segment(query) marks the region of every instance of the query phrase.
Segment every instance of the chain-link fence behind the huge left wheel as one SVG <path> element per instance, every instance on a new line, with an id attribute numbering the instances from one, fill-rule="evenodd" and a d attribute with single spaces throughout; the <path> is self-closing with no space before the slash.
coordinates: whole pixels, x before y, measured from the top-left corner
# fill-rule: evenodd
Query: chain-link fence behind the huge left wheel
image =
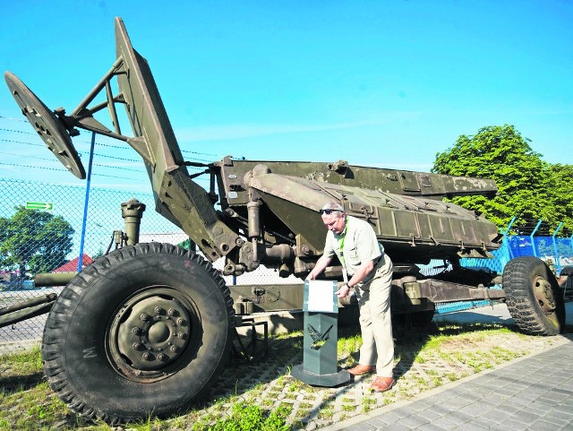
<path id="1" fill-rule="evenodd" d="M 151 193 L 91 188 L 86 208 L 84 187 L 0 178 L 0 308 L 59 293 L 62 287 L 37 289 L 34 276 L 39 272 L 77 272 L 80 262 L 85 266 L 113 249 L 114 231 L 124 230 L 121 204 L 130 199 L 146 205 L 140 242 L 181 244 L 187 239 L 180 228 L 155 211 Z M 222 269 L 223 263 L 221 259 L 214 266 Z M 228 285 L 301 282 L 292 276 L 281 279 L 267 268 L 225 280 Z M 37 341 L 46 317 L 0 328 L 0 344 L 25 347 Z"/>

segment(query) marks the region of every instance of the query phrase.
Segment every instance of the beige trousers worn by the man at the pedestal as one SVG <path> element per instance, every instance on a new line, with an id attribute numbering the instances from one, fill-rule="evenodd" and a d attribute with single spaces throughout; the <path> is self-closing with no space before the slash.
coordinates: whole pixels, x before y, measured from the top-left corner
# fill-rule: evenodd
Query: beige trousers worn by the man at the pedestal
<path id="1" fill-rule="evenodd" d="M 376 366 L 376 375 L 392 377 L 394 368 L 394 338 L 390 315 L 390 284 L 392 261 L 383 254 L 376 265 L 374 277 L 356 285 L 360 307 L 362 346 L 358 362 Z"/>

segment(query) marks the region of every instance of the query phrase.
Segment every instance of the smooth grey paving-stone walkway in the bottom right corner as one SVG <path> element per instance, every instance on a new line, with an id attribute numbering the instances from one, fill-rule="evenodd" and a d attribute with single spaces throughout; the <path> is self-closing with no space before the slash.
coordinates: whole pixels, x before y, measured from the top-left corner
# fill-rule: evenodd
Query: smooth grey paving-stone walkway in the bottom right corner
<path id="1" fill-rule="evenodd" d="M 564 337 L 541 353 L 321 431 L 573 430 L 573 334 Z"/>

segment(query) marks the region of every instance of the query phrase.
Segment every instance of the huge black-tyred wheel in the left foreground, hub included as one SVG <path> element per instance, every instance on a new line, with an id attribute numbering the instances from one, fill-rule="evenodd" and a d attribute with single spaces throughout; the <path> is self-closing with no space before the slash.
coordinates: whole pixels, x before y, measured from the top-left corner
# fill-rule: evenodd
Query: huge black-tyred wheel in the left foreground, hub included
<path id="1" fill-rule="evenodd" d="M 165 417 L 217 378 L 233 327 L 229 290 L 201 256 L 167 244 L 127 246 L 85 268 L 58 297 L 44 330 L 44 370 L 83 417 Z"/>

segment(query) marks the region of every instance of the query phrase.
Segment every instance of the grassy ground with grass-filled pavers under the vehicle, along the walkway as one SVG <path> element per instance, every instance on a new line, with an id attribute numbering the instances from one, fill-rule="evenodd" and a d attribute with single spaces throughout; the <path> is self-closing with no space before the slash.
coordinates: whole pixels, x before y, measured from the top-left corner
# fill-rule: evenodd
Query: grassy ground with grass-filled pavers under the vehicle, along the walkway
<path id="1" fill-rule="evenodd" d="M 496 325 L 440 323 L 431 332 L 412 332 L 396 342 L 395 390 L 384 394 L 310 386 L 290 375 L 302 363 L 302 332 L 269 340 L 269 358 L 229 366 L 211 389 L 209 402 L 175 418 L 145 418 L 129 424 L 135 431 L 234 431 L 303 429 L 350 418 L 417 393 L 490 369 L 556 342 Z M 338 331 L 338 365 L 358 358 L 359 329 Z M 359 380 L 360 382 L 360 380 Z M 369 384 L 364 380 L 364 384 Z M 336 402 L 335 402 L 336 401 Z M 256 426 L 256 427 L 254 427 Z M 76 417 L 48 387 L 39 349 L 0 358 L 0 430 L 112 431 L 102 422 Z"/>

